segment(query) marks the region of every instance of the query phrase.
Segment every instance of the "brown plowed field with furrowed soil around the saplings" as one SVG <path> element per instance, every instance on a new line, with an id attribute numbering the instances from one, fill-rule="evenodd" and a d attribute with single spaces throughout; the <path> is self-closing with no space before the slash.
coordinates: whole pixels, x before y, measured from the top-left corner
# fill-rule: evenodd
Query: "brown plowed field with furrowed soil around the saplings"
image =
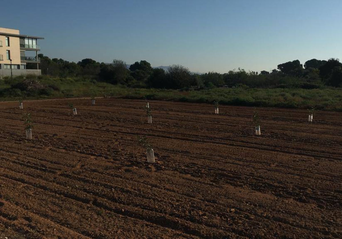
<path id="1" fill-rule="evenodd" d="M 0 238 L 342 238 L 342 113 L 144 104 L 1 102 Z"/>

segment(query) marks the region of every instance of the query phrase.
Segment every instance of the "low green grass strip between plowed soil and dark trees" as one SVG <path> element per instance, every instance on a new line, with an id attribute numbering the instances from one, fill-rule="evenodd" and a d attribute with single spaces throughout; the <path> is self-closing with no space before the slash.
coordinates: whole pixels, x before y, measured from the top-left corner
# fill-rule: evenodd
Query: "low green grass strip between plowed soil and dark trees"
<path id="1" fill-rule="evenodd" d="M 47 99 L 108 96 L 129 99 L 168 100 L 213 103 L 237 106 L 261 106 L 342 111 L 342 89 L 323 87 L 301 88 L 250 88 L 215 87 L 201 90 L 173 90 L 154 88 L 129 88 L 105 82 L 79 78 L 51 78 L 48 76 L 18 76 L 13 80 L 0 80 L 0 100 L 20 98 Z"/>

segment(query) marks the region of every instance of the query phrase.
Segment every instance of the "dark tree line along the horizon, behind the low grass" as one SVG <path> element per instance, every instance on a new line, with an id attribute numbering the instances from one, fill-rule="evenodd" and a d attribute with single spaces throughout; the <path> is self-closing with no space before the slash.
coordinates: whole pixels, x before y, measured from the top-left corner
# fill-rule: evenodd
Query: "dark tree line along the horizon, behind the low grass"
<path id="1" fill-rule="evenodd" d="M 146 60 L 136 61 L 127 67 L 123 60 L 114 59 L 110 64 L 86 58 L 77 63 L 63 59 L 50 59 L 43 54 L 39 68 L 42 74 L 56 77 L 85 77 L 128 87 L 203 89 L 213 87 L 253 88 L 320 88 L 342 87 L 342 63 L 339 59 L 311 59 L 304 63 L 288 61 L 268 71 L 245 71 L 238 68 L 227 73 L 208 72 L 195 74 L 181 65 L 171 65 L 168 70 L 152 68 Z M 27 64 L 34 69 L 35 64 Z"/>

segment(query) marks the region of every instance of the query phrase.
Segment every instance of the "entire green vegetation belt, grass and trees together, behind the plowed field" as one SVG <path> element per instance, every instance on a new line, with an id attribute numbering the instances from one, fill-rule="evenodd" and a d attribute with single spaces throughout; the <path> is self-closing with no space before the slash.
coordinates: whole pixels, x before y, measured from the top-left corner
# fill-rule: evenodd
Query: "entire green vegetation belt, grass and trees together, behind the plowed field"
<path id="1" fill-rule="evenodd" d="M 75 63 L 39 57 L 43 75 L 0 79 L 0 100 L 104 96 L 342 111 L 342 63 L 334 58 L 311 59 L 304 67 L 293 60 L 272 72 L 238 68 L 193 74 L 180 65 L 167 72 L 153 69 L 145 60 L 128 69 L 117 59 L 105 64 L 89 58 Z"/>

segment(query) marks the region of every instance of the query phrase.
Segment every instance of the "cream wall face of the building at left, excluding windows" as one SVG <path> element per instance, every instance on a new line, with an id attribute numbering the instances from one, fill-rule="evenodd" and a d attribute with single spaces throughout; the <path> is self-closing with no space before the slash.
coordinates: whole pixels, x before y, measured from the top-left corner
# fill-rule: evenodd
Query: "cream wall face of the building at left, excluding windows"
<path id="1" fill-rule="evenodd" d="M 19 30 L 8 29 L 0 27 L 0 32 L 10 33 L 10 34 L 19 34 Z M 5 37 L 0 35 L 0 41 L 2 41 L 2 47 L 0 46 L 0 55 L 3 56 L 3 60 L 0 61 L 1 64 L 11 64 L 10 60 L 7 60 L 6 50 L 10 50 L 10 55 L 12 59 L 12 64 L 20 65 L 20 41 L 19 37 L 11 37 L 9 36 L 10 46 L 6 46 Z"/>

